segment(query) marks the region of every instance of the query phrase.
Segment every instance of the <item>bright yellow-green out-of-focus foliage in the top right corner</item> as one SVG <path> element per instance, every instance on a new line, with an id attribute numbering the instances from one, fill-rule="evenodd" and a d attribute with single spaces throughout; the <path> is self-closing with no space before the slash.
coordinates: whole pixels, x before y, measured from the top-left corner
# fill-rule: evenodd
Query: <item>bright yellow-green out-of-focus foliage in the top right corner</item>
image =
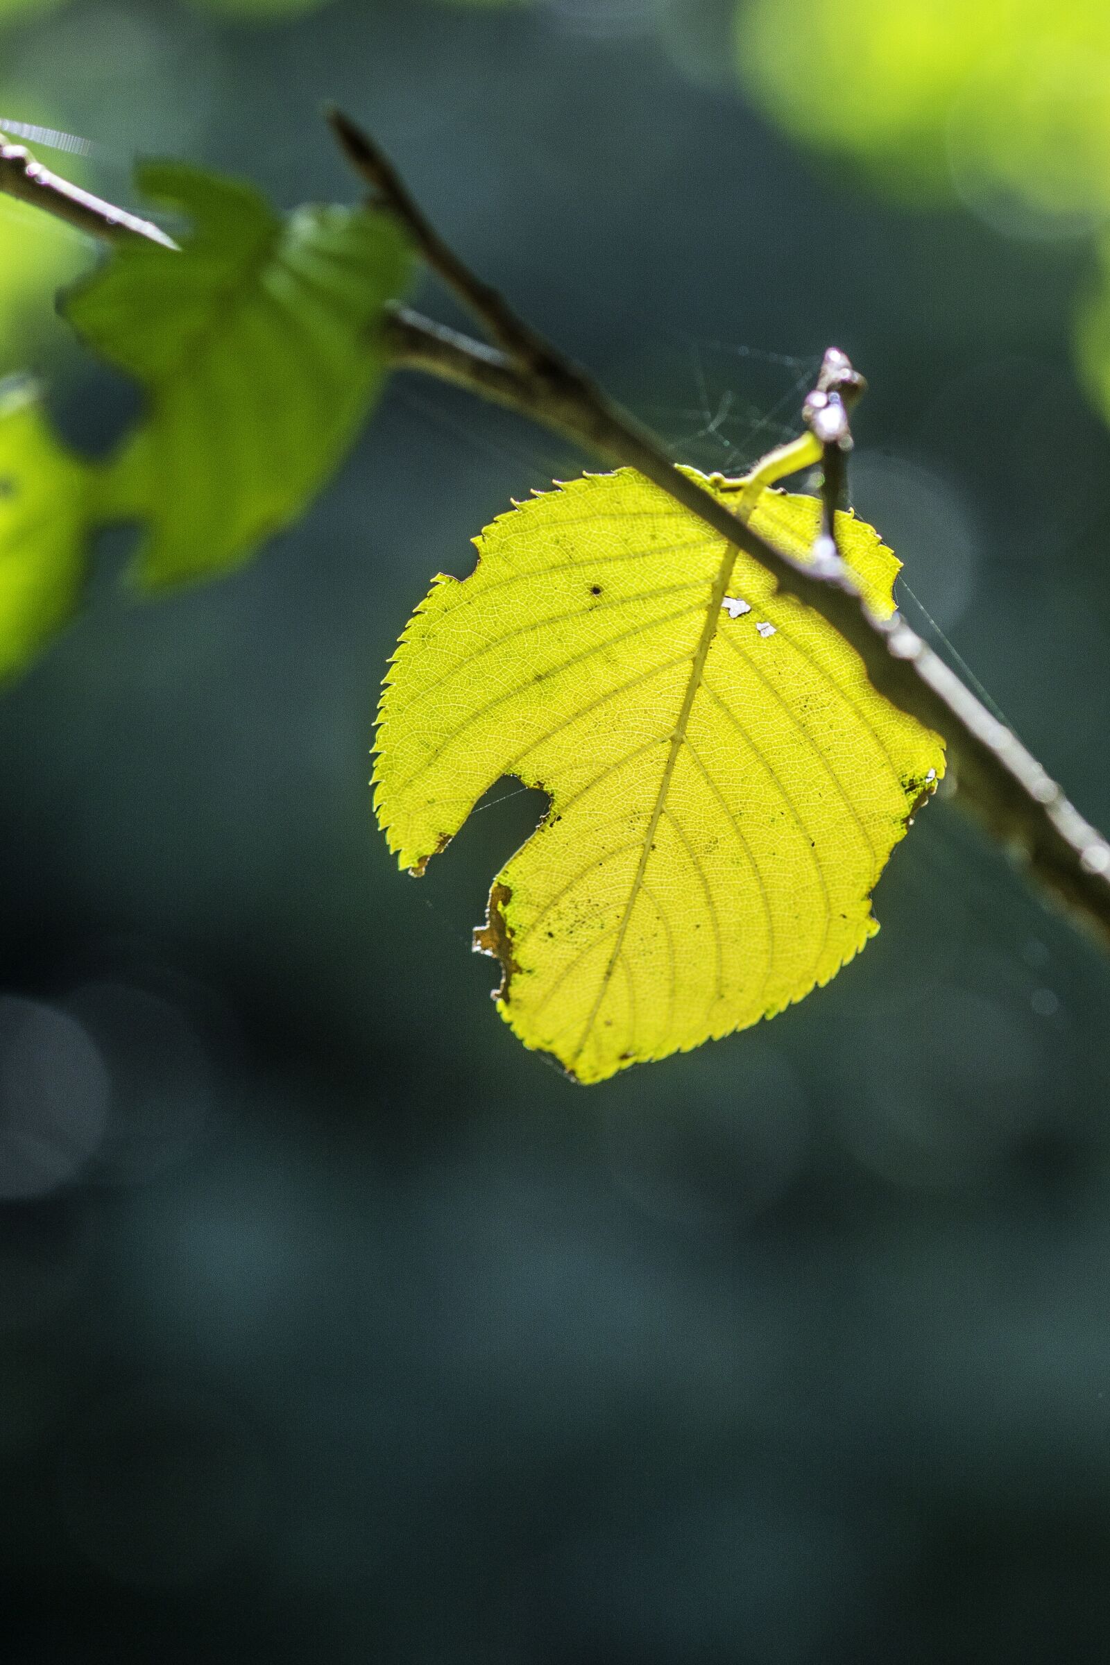
<path id="1" fill-rule="evenodd" d="M 789 132 L 1018 233 L 1110 213 L 1105 0 L 739 0 L 737 62 Z"/>

